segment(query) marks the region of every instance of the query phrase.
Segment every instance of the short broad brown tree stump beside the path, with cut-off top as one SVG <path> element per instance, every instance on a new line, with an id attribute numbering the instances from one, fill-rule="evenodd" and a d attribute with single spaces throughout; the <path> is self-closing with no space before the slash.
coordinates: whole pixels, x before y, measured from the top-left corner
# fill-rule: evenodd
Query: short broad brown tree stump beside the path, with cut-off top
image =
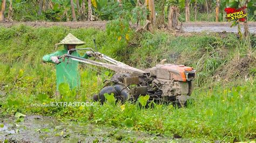
<path id="1" fill-rule="evenodd" d="M 177 6 L 170 6 L 167 26 L 169 30 L 176 30 L 176 26 L 178 25 L 178 13 L 179 9 Z"/>

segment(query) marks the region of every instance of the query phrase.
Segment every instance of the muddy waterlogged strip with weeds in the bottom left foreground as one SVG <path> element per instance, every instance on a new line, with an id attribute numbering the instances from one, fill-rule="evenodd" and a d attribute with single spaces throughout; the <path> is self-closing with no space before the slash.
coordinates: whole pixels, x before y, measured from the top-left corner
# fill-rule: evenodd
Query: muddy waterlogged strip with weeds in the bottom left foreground
<path id="1" fill-rule="evenodd" d="M 62 123 L 52 117 L 43 116 L 26 116 L 24 121 L 19 122 L 16 122 L 14 118 L 0 119 L 0 125 L 0 141 L 2 142 L 4 140 L 22 142 L 176 141 L 176 139 L 157 137 L 129 129 L 74 123 L 72 121 Z"/>

